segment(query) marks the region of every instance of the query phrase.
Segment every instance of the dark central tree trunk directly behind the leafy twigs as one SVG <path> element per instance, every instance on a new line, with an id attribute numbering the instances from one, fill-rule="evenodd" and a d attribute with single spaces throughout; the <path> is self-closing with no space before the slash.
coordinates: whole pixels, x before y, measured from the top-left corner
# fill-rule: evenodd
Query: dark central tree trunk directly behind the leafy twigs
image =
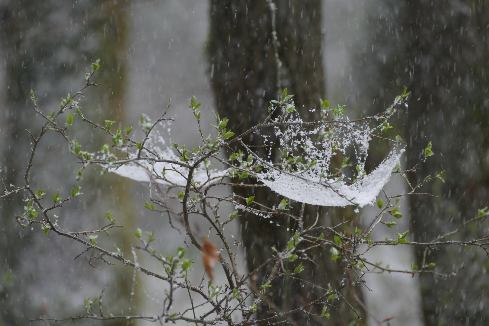
<path id="1" fill-rule="evenodd" d="M 278 37 L 278 55 L 283 63 L 281 69 L 281 87 L 287 87 L 293 94 L 295 106 L 304 119 L 314 119 L 309 109 L 318 108 L 319 98 L 325 98 L 325 76 L 323 68 L 321 32 L 321 1 L 276 1 L 276 30 Z M 207 45 L 210 58 L 210 74 L 217 109 L 221 116 L 229 118 L 228 129 L 243 132 L 257 125 L 267 116 L 270 100 L 277 99 L 277 65 L 272 42 L 271 12 L 265 0 L 249 1 L 211 1 L 210 39 Z M 270 140 L 274 135 L 270 135 Z M 254 146 L 263 145 L 263 139 L 249 135 L 245 142 Z M 238 150 L 237 147 L 235 150 Z M 255 147 L 263 155 L 268 149 Z M 275 154 L 277 147 L 272 149 Z M 339 155 L 338 155 L 339 156 Z M 255 201 L 267 203 L 270 207 L 280 201 L 279 196 L 269 190 L 251 191 L 240 187 L 233 188 L 239 196 L 255 196 Z M 300 203 L 292 203 L 294 213 L 298 215 Z M 311 225 L 316 217 L 316 209 L 310 205 L 305 210 L 305 225 Z M 322 209 L 320 212 L 325 223 L 334 223 L 343 218 L 352 218 L 353 211 L 348 209 Z M 278 218 L 272 221 L 266 218 L 244 214 L 240 219 L 242 240 L 248 270 L 260 266 L 272 255 L 271 247 L 283 247 L 287 244 L 292 230 L 298 229 L 294 221 Z M 281 226 L 276 226 L 279 223 Z M 329 224 L 331 225 L 331 224 Z M 317 255 L 316 255 L 317 254 Z M 320 261 L 320 267 L 309 261 L 303 261 L 307 269 L 308 281 L 323 288 L 328 284 L 337 286 L 341 278 L 338 261 L 329 257 L 320 257 L 319 251 L 312 252 L 314 261 Z M 326 260 L 326 262 L 324 262 Z M 296 263 L 288 263 L 286 269 L 293 269 Z M 270 270 L 257 273 L 257 283 L 265 280 Z M 313 287 L 301 288 L 289 279 L 272 283 L 267 295 L 282 312 L 300 307 L 313 301 L 323 291 Z M 345 297 L 357 307 L 348 288 Z M 357 290 L 357 293 L 360 292 Z M 292 316 L 297 325 L 355 325 L 357 319 L 346 304 L 340 303 L 340 313 L 332 312 L 331 320 L 309 319 L 305 314 Z M 313 307 L 312 312 L 321 314 L 322 305 Z M 269 307 L 259 308 L 259 318 L 269 317 Z M 361 314 L 361 313 L 360 313 Z M 353 322 L 353 324 L 351 324 Z M 309 324 L 308 324 L 309 323 Z"/>

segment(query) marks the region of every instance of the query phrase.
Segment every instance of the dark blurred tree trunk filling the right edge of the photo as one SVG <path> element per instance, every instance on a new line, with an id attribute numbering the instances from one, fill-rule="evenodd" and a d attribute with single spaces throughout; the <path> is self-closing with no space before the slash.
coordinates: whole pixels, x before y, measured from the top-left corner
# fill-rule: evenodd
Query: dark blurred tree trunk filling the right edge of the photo
<path id="1" fill-rule="evenodd" d="M 424 198 L 411 200 L 416 212 L 412 217 L 415 239 L 429 241 L 456 229 L 488 205 L 489 4 L 469 2 L 460 7 L 440 1 L 435 9 L 425 1 L 410 1 L 408 8 L 413 36 L 407 51 L 414 68 L 408 84 L 413 96 L 407 130 L 414 137 L 408 162 L 419 161 L 429 141 L 435 152 L 411 181 L 420 182 L 423 175 L 442 170 L 447 181 L 444 186 L 431 186 L 431 192 L 441 196 L 433 204 L 426 205 Z M 447 14 L 450 12 L 453 15 Z M 423 127 L 417 130 L 416 126 Z M 452 239 L 487 235 L 487 223 L 478 225 L 472 224 Z M 428 252 L 427 262 L 436 262 L 436 269 L 446 274 L 465 269 L 449 280 L 434 282 L 428 274 L 421 277 L 425 325 L 487 325 L 488 257 L 478 247 L 439 249 L 441 252 Z M 420 264 L 423 252 L 416 253 Z"/>

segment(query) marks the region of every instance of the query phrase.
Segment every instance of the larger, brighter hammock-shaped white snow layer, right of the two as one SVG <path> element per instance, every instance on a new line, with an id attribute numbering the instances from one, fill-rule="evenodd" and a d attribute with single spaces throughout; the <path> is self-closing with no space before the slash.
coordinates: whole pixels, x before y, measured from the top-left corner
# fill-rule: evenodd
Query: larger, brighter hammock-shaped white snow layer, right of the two
<path id="1" fill-rule="evenodd" d="M 277 170 L 258 174 L 257 177 L 277 194 L 298 202 L 339 207 L 357 204 L 363 207 L 377 199 L 403 152 L 404 149 L 396 154 L 394 149 L 374 171 L 352 185 L 333 179 L 320 181 L 318 175 L 294 175 Z"/>

